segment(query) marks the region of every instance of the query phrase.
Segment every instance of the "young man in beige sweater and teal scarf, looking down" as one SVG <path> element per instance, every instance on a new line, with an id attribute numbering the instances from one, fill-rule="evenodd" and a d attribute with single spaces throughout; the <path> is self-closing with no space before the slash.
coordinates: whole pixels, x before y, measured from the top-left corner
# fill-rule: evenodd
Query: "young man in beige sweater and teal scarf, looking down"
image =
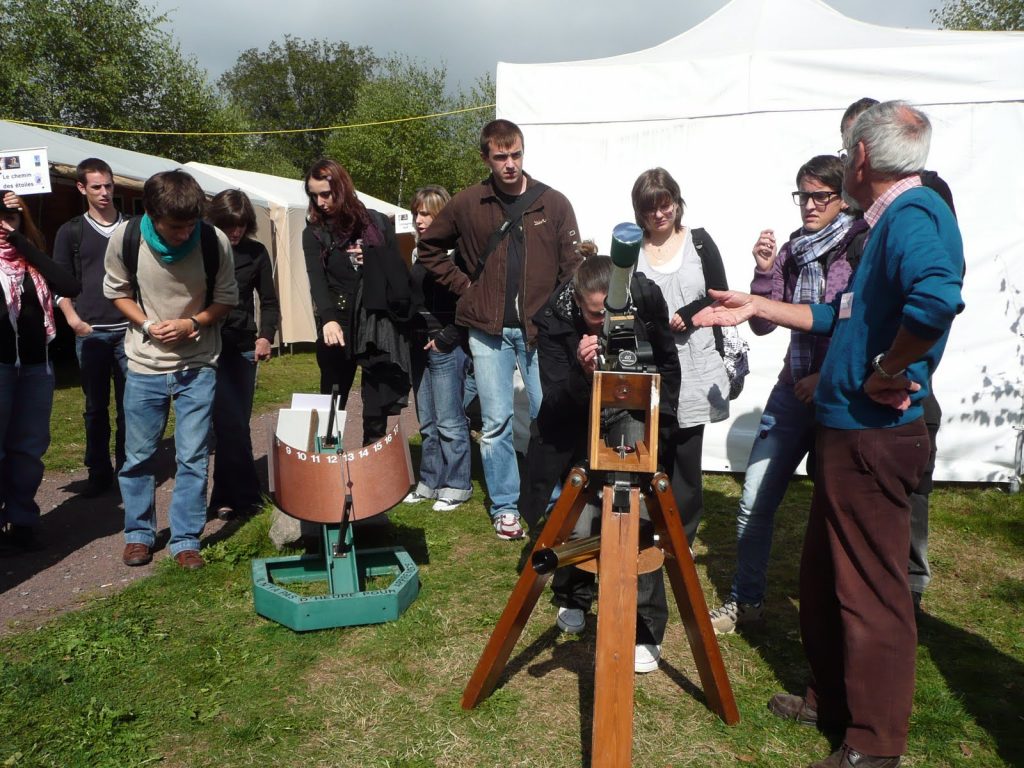
<path id="1" fill-rule="evenodd" d="M 174 402 L 177 460 L 169 510 L 171 556 L 183 568 L 205 564 L 206 478 L 219 325 L 238 304 L 231 246 L 216 231 L 219 263 L 212 286 L 201 246 L 206 196 L 184 171 L 146 180 L 137 257 L 126 254 L 129 224 L 106 248 L 103 295 L 131 327 L 125 352 L 125 464 L 118 475 L 125 505 L 125 565 L 144 565 L 156 545 L 157 449 Z M 209 237 L 209 236 L 208 236 Z M 126 258 L 126 255 L 129 258 Z"/>

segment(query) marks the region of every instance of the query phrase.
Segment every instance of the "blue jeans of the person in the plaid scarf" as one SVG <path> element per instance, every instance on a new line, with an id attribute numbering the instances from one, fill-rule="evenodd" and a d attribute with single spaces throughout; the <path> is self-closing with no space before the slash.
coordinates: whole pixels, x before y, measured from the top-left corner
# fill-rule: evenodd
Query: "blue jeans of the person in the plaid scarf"
<path id="1" fill-rule="evenodd" d="M 775 510 L 813 444 L 814 407 L 797 399 L 791 385 L 777 382 L 761 415 L 739 497 L 733 600 L 764 599 Z"/>

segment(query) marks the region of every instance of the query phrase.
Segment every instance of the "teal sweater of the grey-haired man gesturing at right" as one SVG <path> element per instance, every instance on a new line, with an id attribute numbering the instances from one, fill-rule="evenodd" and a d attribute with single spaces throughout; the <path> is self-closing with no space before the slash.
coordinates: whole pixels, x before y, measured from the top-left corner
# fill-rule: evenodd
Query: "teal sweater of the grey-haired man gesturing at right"
<path id="1" fill-rule="evenodd" d="M 949 207 L 931 189 L 915 187 L 892 202 L 867 239 L 850 292 L 850 316 L 839 317 L 841 299 L 814 304 L 812 333 L 831 334 L 815 392 L 818 423 L 834 429 L 876 429 L 921 418 L 949 328 L 964 309 L 964 244 Z M 907 369 L 921 384 L 900 412 L 864 394 L 871 359 L 889 349 L 900 327 L 935 339 Z"/>

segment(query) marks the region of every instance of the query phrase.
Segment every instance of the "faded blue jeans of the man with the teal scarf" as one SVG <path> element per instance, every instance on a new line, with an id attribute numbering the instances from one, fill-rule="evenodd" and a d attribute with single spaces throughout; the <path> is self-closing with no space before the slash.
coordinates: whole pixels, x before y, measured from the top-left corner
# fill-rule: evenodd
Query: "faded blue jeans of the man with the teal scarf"
<path id="1" fill-rule="evenodd" d="M 174 401 L 177 474 L 169 513 L 171 555 L 199 549 L 206 525 L 206 471 L 217 374 L 210 367 L 173 374 L 128 372 L 125 385 L 125 465 L 118 478 L 125 503 L 125 543 L 157 540 L 157 449 Z"/>

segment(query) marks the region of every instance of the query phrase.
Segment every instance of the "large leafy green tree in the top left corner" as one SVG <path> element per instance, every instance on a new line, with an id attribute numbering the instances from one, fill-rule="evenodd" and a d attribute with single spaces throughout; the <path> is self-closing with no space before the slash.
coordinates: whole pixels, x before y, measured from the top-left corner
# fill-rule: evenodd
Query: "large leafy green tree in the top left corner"
<path id="1" fill-rule="evenodd" d="M 140 0 L 17 0 L 0 4 L 0 115 L 65 126 L 215 131 L 233 127 L 206 81 Z M 177 160 L 223 162 L 225 137 L 81 135 Z"/>

